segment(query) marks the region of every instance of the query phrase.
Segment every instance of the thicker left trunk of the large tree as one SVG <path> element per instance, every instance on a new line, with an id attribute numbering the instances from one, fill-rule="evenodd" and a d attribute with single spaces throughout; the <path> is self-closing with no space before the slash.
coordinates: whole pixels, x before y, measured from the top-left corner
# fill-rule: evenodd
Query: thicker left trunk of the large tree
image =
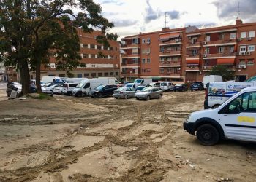
<path id="1" fill-rule="evenodd" d="M 29 66 L 26 60 L 19 60 L 20 68 L 20 81 L 22 84 L 22 95 L 30 93 L 30 75 L 29 75 Z"/>

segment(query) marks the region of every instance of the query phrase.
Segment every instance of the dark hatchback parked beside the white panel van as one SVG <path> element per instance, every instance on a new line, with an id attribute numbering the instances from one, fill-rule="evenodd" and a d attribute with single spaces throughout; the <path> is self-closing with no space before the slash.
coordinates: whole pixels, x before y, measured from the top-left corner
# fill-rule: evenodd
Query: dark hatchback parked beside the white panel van
<path id="1" fill-rule="evenodd" d="M 103 98 L 105 96 L 113 95 L 113 92 L 116 89 L 116 84 L 101 84 L 94 90 L 91 90 L 89 95 L 91 98 Z"/>

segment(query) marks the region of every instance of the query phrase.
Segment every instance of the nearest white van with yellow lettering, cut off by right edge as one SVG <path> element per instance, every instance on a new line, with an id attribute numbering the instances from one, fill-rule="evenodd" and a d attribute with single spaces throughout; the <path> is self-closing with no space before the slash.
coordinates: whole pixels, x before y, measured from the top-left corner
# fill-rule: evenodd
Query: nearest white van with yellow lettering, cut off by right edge
<path id="1" fill-rule="evenodd" d="M 218 108 L 190 114 L 184 130 L 208 146 L 225 138 L 256 142 L 256 87 L 241 90 Z"/>

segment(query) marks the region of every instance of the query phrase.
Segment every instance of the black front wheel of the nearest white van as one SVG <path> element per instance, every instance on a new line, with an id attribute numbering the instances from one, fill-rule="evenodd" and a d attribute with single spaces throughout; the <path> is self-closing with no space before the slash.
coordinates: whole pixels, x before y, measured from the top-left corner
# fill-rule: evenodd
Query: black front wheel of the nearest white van
<path id="1" fill-rule="evenodd" d="M 211 124 L 203 124 L 197 129 L 197 139 L 204 146 L 213 146 L 219 142 L 219 132 Z"/>

